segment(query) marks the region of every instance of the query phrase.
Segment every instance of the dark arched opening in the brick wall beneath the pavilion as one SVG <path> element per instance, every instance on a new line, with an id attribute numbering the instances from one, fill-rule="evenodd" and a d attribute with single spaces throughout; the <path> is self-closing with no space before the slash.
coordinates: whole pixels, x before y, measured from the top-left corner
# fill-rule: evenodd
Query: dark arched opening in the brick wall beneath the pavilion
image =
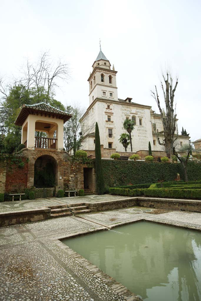
<path id="1" fill-rule="evenodd" d="M 57 185 L 57 161 L 49 155 L 40 156 L 34 164 L 34 186 L 49 188 Z"/>

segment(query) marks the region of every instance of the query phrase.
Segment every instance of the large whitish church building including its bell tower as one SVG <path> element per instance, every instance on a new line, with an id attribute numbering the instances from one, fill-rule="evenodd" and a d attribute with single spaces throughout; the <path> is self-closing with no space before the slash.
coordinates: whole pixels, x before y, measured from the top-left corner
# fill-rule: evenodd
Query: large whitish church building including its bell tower
<path id="1" fill-rule="evenodd" d="M 156 131 L 163 138 L 160 115 L 156 114 L 149 105 L 132 102 L 132 98 L 118 98 L 117 71 L 114 65 L 111 69 L 109 60 L 101 50 L 92 68 L 92 73 L 88 78 L 89 107 L 81 118 L 83 127 L 89 129 L 83 131 L 82 149 L 87 153 L 95 149 L 95 123 L 97 121 L 103 148 L 112 149 L 113 152 L 125 152 L 118 139 L 120 134 L 126 132 L 123 128 L 124 120 L 133 119 L 135 121 L 135 127 L 131 133 L 133 152 L 148 151 L 149 141 L 152 151 L 164 151 L 164 147 L 159 145 L 153 131 L 153 126 L 155 126 Z M 179 135 L 177 145 L 180 147 L 188 143 L 188 139 L 189 137 Z M 127 152 L 130 151 L 129 146 Z"/>

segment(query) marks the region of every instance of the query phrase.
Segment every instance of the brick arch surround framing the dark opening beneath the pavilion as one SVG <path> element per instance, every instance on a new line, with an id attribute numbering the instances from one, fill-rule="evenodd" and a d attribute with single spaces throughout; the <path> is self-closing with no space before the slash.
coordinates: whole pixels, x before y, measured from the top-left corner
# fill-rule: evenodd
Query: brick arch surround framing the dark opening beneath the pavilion
<path id="1" fill-rule="evenodd" d="M 28 163 L 28 176 L 27 176 L 27 188 L 34 187 L 34 164 L 36 160 L 44 155 L 53 157 L 57 163 L 57 189 L 63 189 L 63 154 L 61 152 L 52 152 L 52 151 L 29 151 L 29 163 Z M 56 189 L 56 190 L 57 190 Z"/>

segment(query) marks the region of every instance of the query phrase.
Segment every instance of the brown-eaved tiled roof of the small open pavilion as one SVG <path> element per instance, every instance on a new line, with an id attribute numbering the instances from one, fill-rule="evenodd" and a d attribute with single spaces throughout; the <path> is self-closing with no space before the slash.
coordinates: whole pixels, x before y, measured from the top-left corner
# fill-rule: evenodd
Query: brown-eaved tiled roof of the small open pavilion
<path id="1" fill-rule="evenodd" d="M 40 102 L 38 104 L 23 104 L 22 109 L 17 116 L 15 124 L 17 126 L 22 126 L 24 121 L 27 119 L 29 114 L 41 113 L 50 116 L 56 116 L 58 119 L 63 119 L 64 123 L 71 118 L 71 114 L 59 110 L 55 107 L 52 107 L 50 104 L 46 104 L 45 102 Z"/>

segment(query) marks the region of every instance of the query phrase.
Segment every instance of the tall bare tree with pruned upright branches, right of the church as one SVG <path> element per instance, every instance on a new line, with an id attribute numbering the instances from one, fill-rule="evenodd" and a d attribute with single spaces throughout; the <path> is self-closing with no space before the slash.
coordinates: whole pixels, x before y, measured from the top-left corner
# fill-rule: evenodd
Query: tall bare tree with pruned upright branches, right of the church
<path id="1" fill-rule="evenodd" d="M 176 117 L 177 114 L 175 113 L 176 104 L 174 106 L 174 93 L 177 88 L 178 79 L 176 79 L 176 83 L 173 87 L 173 78 L 167 73 L 167 77 L 163 75 L 163 80 L 165 82 L 165 89 L 163 86 L 163 82 L 161 81 L 161 88 L 163 91 L 163 97 L 165 101 L 165 108 L 166 112 L 162 110 L 159 95 L 157 88 L 155 86 L 155 92 L 151 91 L 152 97 L 155 99 L 159 112 L 162 119 L 163 129 L 164 129 L 164 139 L 160 141 L 159 134 L 155 130 L 155 135 L 157 141 L 160 145 L 165 147 L 165 151 L 167 154 L 173 154 L 174 142 L 177 140 L 177 135 L 175 135 L 176 131 Z"/>

